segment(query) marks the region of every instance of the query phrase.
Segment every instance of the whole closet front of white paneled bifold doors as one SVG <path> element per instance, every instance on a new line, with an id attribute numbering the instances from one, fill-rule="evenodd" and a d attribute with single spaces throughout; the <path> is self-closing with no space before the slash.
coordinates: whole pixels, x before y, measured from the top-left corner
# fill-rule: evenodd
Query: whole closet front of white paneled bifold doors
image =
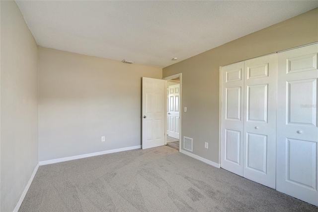
<path id="1" fill-rule="evenodd" d="M 318 44 L 221 69 L 221 167 L 318 206 Z"/>

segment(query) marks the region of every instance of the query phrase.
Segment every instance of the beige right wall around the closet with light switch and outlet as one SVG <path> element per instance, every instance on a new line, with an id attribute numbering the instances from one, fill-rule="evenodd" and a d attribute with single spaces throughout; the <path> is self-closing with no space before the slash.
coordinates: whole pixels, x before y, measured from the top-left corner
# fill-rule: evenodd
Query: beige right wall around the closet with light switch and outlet
<path id="1" fill-rule="evenodd" d="M 317 41 L 318 8 L 163 68 L 163 77 L 182 73 L 181 132 L 193 153 L 219 163 L 220 66 Z"/>

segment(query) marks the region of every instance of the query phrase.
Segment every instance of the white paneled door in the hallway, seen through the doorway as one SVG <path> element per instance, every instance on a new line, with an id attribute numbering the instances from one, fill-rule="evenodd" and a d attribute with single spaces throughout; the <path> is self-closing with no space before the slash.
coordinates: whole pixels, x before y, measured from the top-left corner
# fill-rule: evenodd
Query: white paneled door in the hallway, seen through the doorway
<path id="1" fill-rule="evenodd" d="M 168 87 L 168 135 L 179 139 L 179 125 L 180 125 L 180 84 Z"/>

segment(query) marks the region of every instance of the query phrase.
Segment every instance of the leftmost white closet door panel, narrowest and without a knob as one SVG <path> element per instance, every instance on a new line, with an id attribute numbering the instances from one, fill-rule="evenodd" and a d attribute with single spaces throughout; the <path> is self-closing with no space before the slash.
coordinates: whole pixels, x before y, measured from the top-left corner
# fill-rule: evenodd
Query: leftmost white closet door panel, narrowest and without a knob
<path id="1" fill-rule="evenodd" d="M 221 166 L 243 176 L 244 62 L 222 67 Z"/>

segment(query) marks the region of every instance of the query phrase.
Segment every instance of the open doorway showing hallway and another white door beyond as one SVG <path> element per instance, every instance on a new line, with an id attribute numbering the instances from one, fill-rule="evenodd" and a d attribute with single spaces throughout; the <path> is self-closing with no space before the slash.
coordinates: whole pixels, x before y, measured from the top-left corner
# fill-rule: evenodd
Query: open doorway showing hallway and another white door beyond
<path id="1" fill-rule="evenodd" d="M 181 73 L 166 80 L 165 145 L 180 151 L 181 138 Z"/>

